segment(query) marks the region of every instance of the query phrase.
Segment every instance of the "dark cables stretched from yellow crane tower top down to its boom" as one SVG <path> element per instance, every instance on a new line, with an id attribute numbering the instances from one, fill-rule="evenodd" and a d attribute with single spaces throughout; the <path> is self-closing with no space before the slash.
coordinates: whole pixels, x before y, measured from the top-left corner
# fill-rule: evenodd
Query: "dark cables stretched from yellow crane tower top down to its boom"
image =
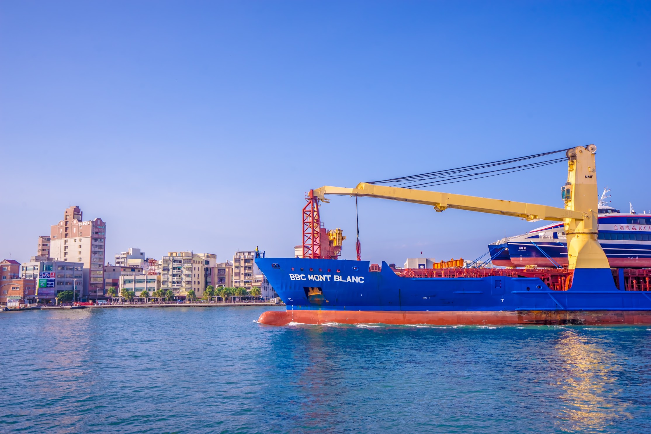
<path id="1" fill-rule="evenodd" d="M 551 154 L 558 154 L 559 152 L 566 152 L 566 149 L 543 152 L 541 154 L 532 154 L 529 156 L 509 158 L 497 161 L 490 161 L 489 163 L 480 163 L 475 165 L 457 167 L 456 169 L 446 169 L 446 170 L 437 170 L 436 172 L 427 172 L 417 175 L 410 176 L 401 176 L 399 178 L 389 178 L 387 180 L 380 181 L 371 181 L 370 184 L 389 184 L 395 187 L 402 186 L 404 188 L 415 188 L 415 187 L 430 187 L 432 185 L 443 185 L 456 182 L 464 182 L 470 180 L 477 180 L 481 178 L 489 178 L 491 176 L 497 176 L 506 173 L 520 172 L 521 170 L 536 169 L 537 167 L 544 167 L 547 165 L 552 165 L 556 163 L 561 163 L 566 161 L 566 157 L 546 159 L 543 161 L 531 161 L 522 165 L 513 165 L 513 163 L 519 163 L 520 161 L 527 161 L 531 159 L 539 159 L 540 157 L 549 156 Z M 501 167 L 494 170 L 484 170 L 490 169 L 497 166 L 508 166 Z"/>

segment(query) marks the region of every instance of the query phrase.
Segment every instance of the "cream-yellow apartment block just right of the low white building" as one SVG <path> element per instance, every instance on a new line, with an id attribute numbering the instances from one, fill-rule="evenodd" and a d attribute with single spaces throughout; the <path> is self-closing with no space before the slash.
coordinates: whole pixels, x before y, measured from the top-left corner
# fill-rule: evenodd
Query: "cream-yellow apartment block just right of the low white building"
<path id="1" fill-rule="evenodd" d="M 204 256 L 202 256 L 204 255 Z M 193 290 L 197 297 L 206 289 L 206 254 L 168 252 L 163 256 L 161 288 L 173 290 L 177 297 L 186 297 Z"/>

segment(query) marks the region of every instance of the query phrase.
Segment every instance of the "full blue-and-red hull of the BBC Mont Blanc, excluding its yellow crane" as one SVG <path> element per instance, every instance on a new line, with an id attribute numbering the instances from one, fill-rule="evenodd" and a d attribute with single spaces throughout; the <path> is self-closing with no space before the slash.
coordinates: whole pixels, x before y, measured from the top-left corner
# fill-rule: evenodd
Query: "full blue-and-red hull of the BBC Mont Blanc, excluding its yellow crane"
<path id="1" fill-rule="evenodd" d="M 609 269 L 576 270 L 570 289 L 559 291 L 532 277 L 399 277 L 385 262 L 379 272 L 371 272 L 368 261 L 255 261 L 287 305 L 286 312 L 260 317 L 260 322 L 274 325 L 595 324 L 651 319 L 651 293 L 620 290 Z"/>

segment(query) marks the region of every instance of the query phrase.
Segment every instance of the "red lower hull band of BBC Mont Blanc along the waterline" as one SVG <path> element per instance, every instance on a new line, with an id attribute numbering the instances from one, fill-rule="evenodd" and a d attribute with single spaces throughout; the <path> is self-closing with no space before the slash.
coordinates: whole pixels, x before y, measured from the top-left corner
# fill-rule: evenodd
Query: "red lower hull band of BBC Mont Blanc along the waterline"
<path id="1" fill-rule="evenodd" d="M 270 310 L 258 318 L 266 325 L 301 324 L 428 324 L 428 325 L 651 325 L 651 311 L 448 311 Z"/>

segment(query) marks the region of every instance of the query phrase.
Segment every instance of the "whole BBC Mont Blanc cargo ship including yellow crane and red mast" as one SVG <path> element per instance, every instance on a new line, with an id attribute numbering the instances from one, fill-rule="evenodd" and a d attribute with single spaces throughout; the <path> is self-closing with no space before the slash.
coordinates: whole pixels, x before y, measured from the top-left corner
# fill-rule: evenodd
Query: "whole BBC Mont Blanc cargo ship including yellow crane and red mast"
<path id="1" fill-rule="evenodd" d="M 562 152 L 566 152 L 568 159 L 568 182 L 561 188 L 564 208 L 377 185 L 406 182 L 414 176 L 359 183 L 352 189 L 324 186 L 310 191 L 306 197 L 308 205 L 303 208 L 303 258 L 264 258 L 264 254 L 258 254 L 255 259 L 287 306 L 285 311 L 264 312 L 259 321 L 272 325 L 292 322 L 651 324 L 651 273 L 646 269 L 633 272 L 611 269 L 600 243 L 605 234 L 609 234 L 609 241 L 618 243 L 624 232 L 644 232 L 648 229 L 631 227 L 645 226 L 646 220 L 640 223 L 640 217 L 609 213 L 612 215 L 607 219 L 614 219 L 613 223 L 608 221 L 603 225 L 613 228 L 600 230 L 596 146 L 577 146 Z M 467 168 L 460 170 L 465 172 Z M 432 173 L 415 177 L 438 176 Z M 445 171 L 445 176 L 448 174 L 449 171 Z M 359 260 L 359 240 L 356 261 L 338 260 L 336 255 L 324 258 L 321 245 L 326 239 L 322 240 L 321 236 L 325 230 L 322 230 L 318 208 L 320 201 L 328 202 L 325 195 L 412 202 L 432 206 L 438 212 L 456 208 L 527 221 L 560 221 L 562 223 L 554 223 L 551 228 L 562 228 L 566 234 L 568 265 L 544 271 L 445 269 L 421 273 L 416 269 L 398 275 L 385 262 L 378 266 Z M 627 223 L 629 218 L 638 220 Z M 552 232 L 546 234 L 547 241 L 555 242 L 554 231 L 546 232 Z M 628 236 L 632 242 L 630 234 Z M 635 237 L 637 242 L 637 232 Z M 512 249 L 509 254 L 513 258 Z"/>

